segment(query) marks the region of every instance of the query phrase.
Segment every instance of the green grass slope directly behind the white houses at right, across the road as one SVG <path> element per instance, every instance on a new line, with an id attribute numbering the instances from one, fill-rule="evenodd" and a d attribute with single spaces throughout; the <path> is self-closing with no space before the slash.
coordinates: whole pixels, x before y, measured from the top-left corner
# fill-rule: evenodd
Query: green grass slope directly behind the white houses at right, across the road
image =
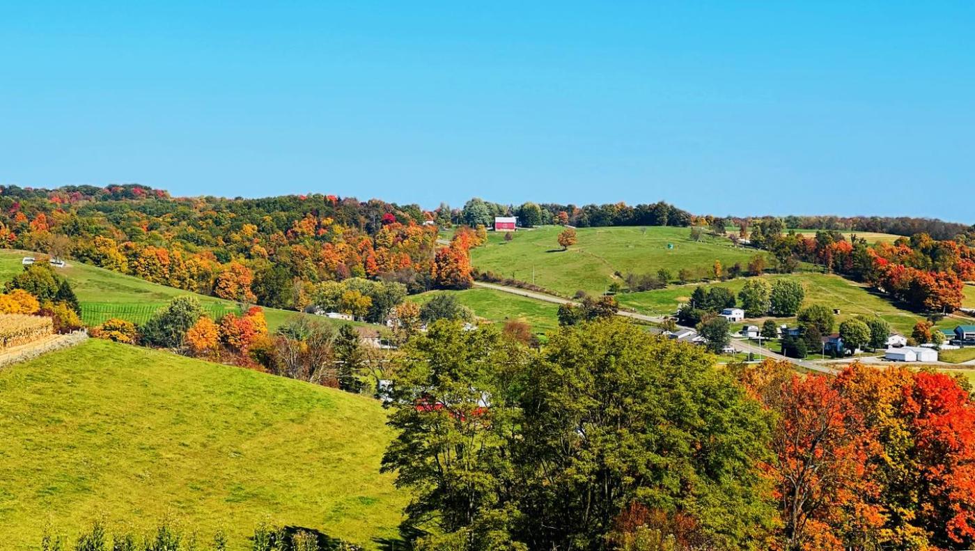
<path id="1" fill-rule="evenodd" d="M 877 315 L 890 323 L 894 331 L 903 335 L 911 335 L 911 330 L 917 321 L 924 319 L 924 316 L 902 310 L 885 297 L 876 295 L 868 288 L 843 279 L 838 275 L 799 272 L 795 274 L 771 274 L 761 277 L 768 280 L 769 283 L 780 278 L 798 279 L 805 288 L 803 306 L 823 304 L 829 308 L 839 308 L 838 322 L 858 315 Z M 737 295 L 748 279 L 750 278 L 737 278 L 720 283 L 704 284 L 704 287 L 724 287 Z M 643 293 L 625 293 L 616 295 L 616 299 L 620 304 L 646 314 L 668 315 L 676 312 L 682 302 L 690 299 L 695 287 L 698 286 L 673 286 Z M 791 319 L 785 318 L 783 320 L 791 321 Z M 946 318 L 938 324 L 938 327 L 954 328 L 958 323 L 961 323 L 960 320 Z"/>

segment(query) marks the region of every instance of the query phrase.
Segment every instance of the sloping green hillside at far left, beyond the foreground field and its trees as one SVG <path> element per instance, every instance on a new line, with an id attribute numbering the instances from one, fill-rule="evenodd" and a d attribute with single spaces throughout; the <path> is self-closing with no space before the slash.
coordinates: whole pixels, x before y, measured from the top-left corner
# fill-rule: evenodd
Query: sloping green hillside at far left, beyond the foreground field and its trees
<path id="1" fill-rule="evenodd" d="M 0 251 L 0 282 L 6 282 L 20 273 L 23 252 Z M 81 262 L 70 262 L 70 267 L 58 270 L 67 277 L 81 303 L 82 320 L 88 325 L 98 325 L 108 318 L 118 317 L 134 323 L 144 322 L 158 307 L 179 295 L 195 295 L 172 287 L 149 283 L 137 277 L 116 273 Z M 204 308 L 212 314 L 237 311 L 237 304 L 214 296 L 195 295 Z M 264 308 L 267 324 L 273 330 L 290 317 L 300 315 L 289 310 Z"/>

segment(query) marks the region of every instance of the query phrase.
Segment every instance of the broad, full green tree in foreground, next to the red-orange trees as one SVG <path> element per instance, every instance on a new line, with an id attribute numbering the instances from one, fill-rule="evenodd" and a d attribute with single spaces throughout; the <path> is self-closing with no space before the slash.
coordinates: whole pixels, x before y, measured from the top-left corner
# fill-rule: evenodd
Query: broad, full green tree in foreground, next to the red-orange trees
<path id="1" fill-rule="evenodd" d="M 692 516 L 721 547 L 761 547 L 767 419 L 701 349 L 618 320 L 581 324 L 532 364 L 522 407 L 532 548 L 602 549 L 634 501 Z"/>

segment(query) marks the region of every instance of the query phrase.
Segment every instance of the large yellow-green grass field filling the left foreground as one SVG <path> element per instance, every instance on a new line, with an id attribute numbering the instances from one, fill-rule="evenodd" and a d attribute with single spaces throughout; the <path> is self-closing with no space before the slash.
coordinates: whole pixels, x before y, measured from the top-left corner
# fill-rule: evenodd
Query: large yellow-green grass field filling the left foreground
<path id="1" fill-rule="evenodd" d="M 376 548 L 407 502 L 379 474 L 385 420 L 365 397 L 92 339 L 0 371 L 0 539 L 173 514 L 235 550 L 265 519 Z"/>

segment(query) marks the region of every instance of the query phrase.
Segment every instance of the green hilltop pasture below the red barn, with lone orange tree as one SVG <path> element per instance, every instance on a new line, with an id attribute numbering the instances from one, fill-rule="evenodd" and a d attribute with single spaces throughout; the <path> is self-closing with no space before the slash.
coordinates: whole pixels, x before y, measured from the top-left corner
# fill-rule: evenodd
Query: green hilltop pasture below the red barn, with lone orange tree
<path id="1" fill-rule="evenodd" d="M 578 290 L 603 293 L 613 274 L 656 274 L 667 268 L 676 280 L 687 268 L 703 276 L 720 260 L 743 266 L 755 255 L 764 254 L 731 245 L 727 239 L 704 235 L 690 240 L 686 227 L 589 227 L 577 228 L 578 243 L 562 251 L 557 242 L 562 226 L 542 226 L 515 233 L 505 241 L 503 233 L 488 233 L 487 244 L 471 252 L 474 266 L 504 277 L 532 282 L 563 295 Z M 673 245 L 669 249 L 668 245 Z M 532 277 L 533 274 L 533 277 Z"/>

